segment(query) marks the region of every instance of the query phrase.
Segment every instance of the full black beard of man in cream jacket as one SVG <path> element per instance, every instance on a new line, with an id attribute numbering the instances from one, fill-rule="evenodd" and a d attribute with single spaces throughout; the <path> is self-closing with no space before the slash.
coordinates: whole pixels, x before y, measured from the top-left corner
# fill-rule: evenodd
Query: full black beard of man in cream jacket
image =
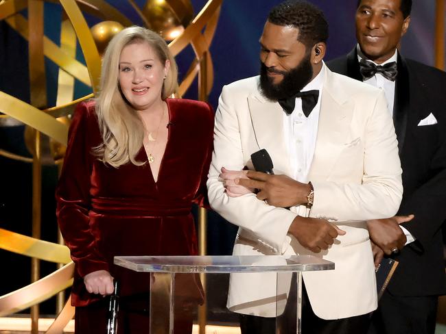
<path id="1" fill-rule="evenodd" d="M 275 70 L 274 68 L 268 69 L 261 62 L 259 83 L 261 94 L 266 99 L 278 101 L 279 99 L 292 97 L 300 92 L 313 77 L 313 67 L 310 58 L 311 53 L 308 53 L 298 66 L 287 71 Z M 268 71 L 283 75 L 282 81 L 279 84 L 272 84 L 272 78 L 268 77 Z"/>

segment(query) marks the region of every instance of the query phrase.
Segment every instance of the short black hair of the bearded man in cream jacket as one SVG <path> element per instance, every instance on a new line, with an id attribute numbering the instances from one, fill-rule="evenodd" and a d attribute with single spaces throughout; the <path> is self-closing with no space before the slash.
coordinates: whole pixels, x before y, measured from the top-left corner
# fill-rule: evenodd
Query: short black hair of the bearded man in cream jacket
<path id="1" fill-rule="evenodd" d="M 324 13 L 306 1 L 288 0 L 279 3 L 270 11 L 268 21 L 274 25 L 297 28 L 297 40 L 307 48 L 317 42 L 327 42 L 329 36 Z"/>

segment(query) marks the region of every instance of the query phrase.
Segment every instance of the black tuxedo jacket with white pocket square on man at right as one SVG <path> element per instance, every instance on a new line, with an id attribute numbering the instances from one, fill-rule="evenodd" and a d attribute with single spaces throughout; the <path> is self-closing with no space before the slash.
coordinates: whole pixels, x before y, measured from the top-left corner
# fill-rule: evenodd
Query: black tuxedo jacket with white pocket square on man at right
<path id="1" fill-rule="evenodd" d="M 329 62 L 333 72 L 362 81 L 356 48 Z M 441 227 L 446 219 L 446 73 L 398 54 L 393 120 L 403 168 L 403 200 L 398 215 L 416 238 L 395 259 L 388 285 L 397 296 L 446 294 Z M 436 125 L 418 126 L 430 114 Z"/>

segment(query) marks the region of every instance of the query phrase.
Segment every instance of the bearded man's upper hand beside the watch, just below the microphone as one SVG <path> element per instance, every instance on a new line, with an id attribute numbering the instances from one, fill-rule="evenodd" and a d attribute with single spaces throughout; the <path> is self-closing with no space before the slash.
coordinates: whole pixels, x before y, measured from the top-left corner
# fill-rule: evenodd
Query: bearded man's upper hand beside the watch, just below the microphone
<path id="1" fill-rule="evenodd" d="M 249 179 L 235 179 L 235 184 L 258 189 L 257 198 L 274 207 L 292 207 L 307 203 L 311 187 L 286 175 L 268 175 L 264 172 L 246 172 Z"/>

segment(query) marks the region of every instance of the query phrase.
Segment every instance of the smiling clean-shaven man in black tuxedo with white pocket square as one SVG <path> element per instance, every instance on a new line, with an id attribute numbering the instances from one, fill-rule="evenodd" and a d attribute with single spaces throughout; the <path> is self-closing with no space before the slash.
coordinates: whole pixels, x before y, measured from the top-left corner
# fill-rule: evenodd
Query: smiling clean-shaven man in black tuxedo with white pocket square
<path id="1" fill-rule="evenodd" d="M 399 142 L 403 201 L 397 216 L 368 222 L 375 264 L 383 252 L 399 261 L 373 314 L 379 334 L 434 333 L 438 296 L 446 294 L 446 73 L 397 51 L 411 7 L 412 0 L 360 0 L 357 47 L 328 64 L 384 90 Z"/>

